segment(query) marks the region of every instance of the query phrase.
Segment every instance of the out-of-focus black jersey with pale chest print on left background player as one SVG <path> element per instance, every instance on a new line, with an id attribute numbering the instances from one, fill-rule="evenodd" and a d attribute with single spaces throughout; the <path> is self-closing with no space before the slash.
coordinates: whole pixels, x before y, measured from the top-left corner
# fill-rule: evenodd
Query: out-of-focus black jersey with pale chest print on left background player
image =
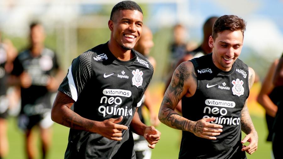
<path id="1" fill-rule="evenodd" d="M 26 72 L 31 77 L 31 86 L 21 87 L 21 112 L 27 116 L 43 114 L 50 111 L 50 95 L 47 82 L 50 76 L 57 71 L 58 63 L 55 53 L 44 48 L 39 56 L 32 56 L 31 50 L 21 52 L 14 60 L 11 74 L 19 76 Z"/>

